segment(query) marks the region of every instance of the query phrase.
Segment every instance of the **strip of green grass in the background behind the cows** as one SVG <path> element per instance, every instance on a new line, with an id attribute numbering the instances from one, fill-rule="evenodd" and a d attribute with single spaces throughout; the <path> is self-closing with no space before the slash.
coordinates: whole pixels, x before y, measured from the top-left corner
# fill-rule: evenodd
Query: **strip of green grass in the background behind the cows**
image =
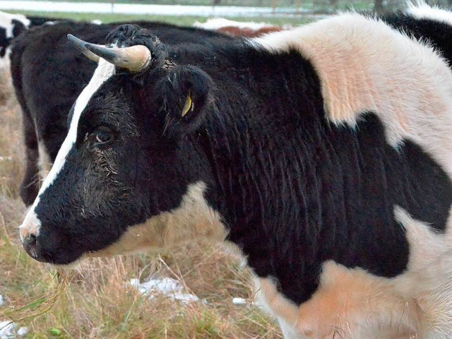
<path id="1" fill-rule="evenodd" d="M 163 21 L 166 23 L 172 23 L 174 25 L 180 26 L 190 26 L 196 21 L 205 22 L 208 18 L 201 16 L 146 16 L 146 15 L 127 15 L 127 14 L 100 14 L 100 13 L 64 13 L 64 12 L 40 12 L 40 11 L 7 11 L 10 13 L 22 13 L 25 16 L 42 16 L 56 19 L 70 18 L 72 20 L 79 21 L 92 21 L 101 20 L 102 23 L 114 23 L 114 22 L 124 22 L 133 20 L 150 20 L 150 21 Z M 306 18 L 302 16 L 290 16 L 290 17 L 239 17 L 239 18 L 228 18 L 230 20 L 238 21 L 254 21 L 266 23 L 273 23 L 275 25 L 303 25 L 309 23 L 313 18 Z"/>

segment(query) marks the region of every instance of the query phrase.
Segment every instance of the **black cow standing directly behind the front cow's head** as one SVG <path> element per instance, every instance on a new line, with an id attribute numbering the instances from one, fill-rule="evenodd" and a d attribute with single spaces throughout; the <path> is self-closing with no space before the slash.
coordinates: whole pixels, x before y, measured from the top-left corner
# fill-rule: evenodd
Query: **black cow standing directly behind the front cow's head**
<path id="1" fill-rule="evenodd" d="M 210 44 L 211 40 L 233 39 L 199 28 L 149 21 L 136 23 L 153 30 L 162 42 L 172 44 Z M 40 179 L 52 167 L 68 131 L 66 121 L 71 105 L 97 65 L 71 48 L 66 35 L 72 32 L 89 42 L 103 43 L 117 25 L 64 21 L 32 28 L 14 40 L 11 77 L 23 112 L 26 163 L 20 196 L 26 206 L 35 201 Z"/>

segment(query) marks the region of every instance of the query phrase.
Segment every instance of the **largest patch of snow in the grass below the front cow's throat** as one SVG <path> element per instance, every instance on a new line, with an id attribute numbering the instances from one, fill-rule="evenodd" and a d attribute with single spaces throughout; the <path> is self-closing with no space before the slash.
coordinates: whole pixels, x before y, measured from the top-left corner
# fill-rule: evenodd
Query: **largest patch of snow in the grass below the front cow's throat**
<path id="1" fill-rule="evenodd" d="M 184 286 L 172 278 L 153 278 L 145 283 L 140 283 L 138 279 L 131 279 L 130 285 L 140 291 L 142 295 L 148 295 L 149 299 L 154 299 L 157 295 L 166 295 L 186 304 L 199 301 L 196 295 L 185 293 Z"/>

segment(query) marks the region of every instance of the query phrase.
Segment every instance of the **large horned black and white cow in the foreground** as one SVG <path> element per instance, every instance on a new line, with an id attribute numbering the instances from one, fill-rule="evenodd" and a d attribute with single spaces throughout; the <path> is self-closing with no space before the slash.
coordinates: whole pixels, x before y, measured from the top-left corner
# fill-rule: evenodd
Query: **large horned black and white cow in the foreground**
<path id="1" fill-rule="evenodd" d="M 434 49 L 357 13 L 209 46 L 130 26 L 109 48 L 71 40 L 101 59 L 20 225 L 30 256 L 226 239 L 285 338 L 452 338 L 452 73 Z"/>

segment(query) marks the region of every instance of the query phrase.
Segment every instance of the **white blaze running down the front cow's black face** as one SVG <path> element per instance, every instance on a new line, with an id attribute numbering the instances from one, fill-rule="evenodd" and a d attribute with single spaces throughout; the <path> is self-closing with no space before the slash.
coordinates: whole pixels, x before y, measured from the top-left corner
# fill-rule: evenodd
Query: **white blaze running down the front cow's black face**
<path id="1" fill-rule="evenodd" d="M 28 210 L 23 224 L 20 225 L 20 237 L 22 239 L 26 234 L 29 233 L 35 234 L 37 236 L 40 230 L 41 222 L 37 218 L 35 208 L 40 202 L 40 196 L 42 196 L 44 191 L 46 191 L 49 186 L 52 186 L 59 172 L 61 172 L 61 169 L 64 167 L 66 157 L 69 154 L 71 148 L 73 148 L 73 145 L 76 143 L 78 121 L 86 105 L 88 105 L 88 102 L 90 101 L 91 97 L 93 97 L 93 94 L 100 88 L 103 83 L 105 83 L 105 81 L 113 76 L 114 73 L 114 65 L 110 64 L 104 59 L 100 59 L 99 66 L 97 66 L 97 69 L 93 74 L 93 78 L 91 78 L 90 83 L 88 83 L 88 85 L 83 89 L 82 93 L 78 96 L 76 104 L 73 107 L 73 116 L 71 125 L 69 126 L 68 135 L 66 136 L 66 139 L 64 139 L 63 145 L 61 145 L 52 169 L 42 183 L 41 189 L 39 191 L 39 194 L 37 194 L 35 202 L 31 206 L 30 210 Z"/>

